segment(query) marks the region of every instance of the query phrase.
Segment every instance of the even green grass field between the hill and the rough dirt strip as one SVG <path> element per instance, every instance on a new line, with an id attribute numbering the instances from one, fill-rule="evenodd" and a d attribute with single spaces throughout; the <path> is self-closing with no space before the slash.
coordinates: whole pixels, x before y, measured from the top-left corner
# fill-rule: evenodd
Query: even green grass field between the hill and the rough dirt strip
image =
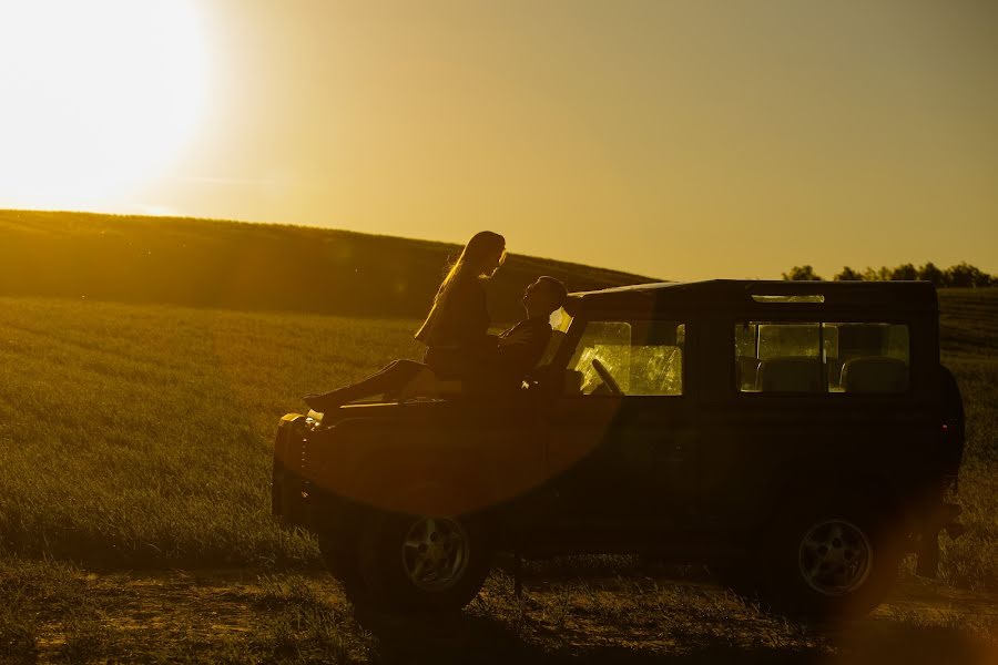
<path id="1" fill-rule="evenodd" d="M 998 326 L 998 290 L 943 303 L 944 361 L 968 418 L 968 532 L 943 539 L 941 575 L 995 589 L 998 360 L 987 331 Z M 315 565 L 314 541 L 269 518 L 275 423 L 303 407 L 302 395 L 418 357 L 413 328 L 0 298 L 0 546 L 103 567 Z"/>

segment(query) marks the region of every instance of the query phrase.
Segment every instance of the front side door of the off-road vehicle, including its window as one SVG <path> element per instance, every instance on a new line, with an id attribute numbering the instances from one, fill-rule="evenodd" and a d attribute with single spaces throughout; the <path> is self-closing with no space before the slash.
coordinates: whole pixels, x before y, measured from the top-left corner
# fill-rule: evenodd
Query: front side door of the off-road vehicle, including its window
<path id="1" fill-rule="evenodd" d="M 676 526 L 694 485 L 686 325 L 584 325 L 569 364 L 582 388 L 554 397 L 540 416 L 559 518 L 579 529 Z"/>

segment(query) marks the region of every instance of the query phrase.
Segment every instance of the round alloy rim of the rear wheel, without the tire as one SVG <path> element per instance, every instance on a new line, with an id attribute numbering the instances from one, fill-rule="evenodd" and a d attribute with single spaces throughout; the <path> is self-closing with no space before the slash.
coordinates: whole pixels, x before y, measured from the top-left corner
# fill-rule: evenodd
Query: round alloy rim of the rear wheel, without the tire
<path id="1" fill-rule="evenodd" d="M 872 554 L 869 539 L 856 524 L 827 520 L 812 525 L 804 534 L 797 565 L 811 589 L 822 595 L 843 596 L 869 577 Z"/>

